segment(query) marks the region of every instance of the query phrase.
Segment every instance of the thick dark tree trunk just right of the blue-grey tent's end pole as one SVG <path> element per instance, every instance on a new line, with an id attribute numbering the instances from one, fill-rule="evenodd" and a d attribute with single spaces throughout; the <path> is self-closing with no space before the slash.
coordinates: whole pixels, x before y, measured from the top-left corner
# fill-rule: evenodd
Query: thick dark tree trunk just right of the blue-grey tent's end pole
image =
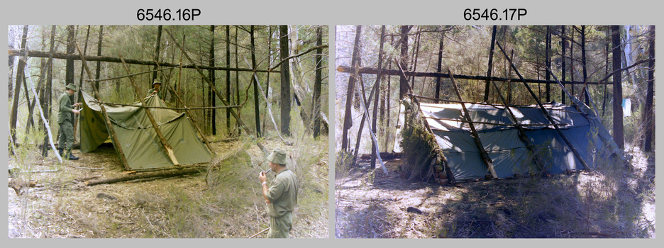
<path id="1" fill-rule="evenodd" d="M 622 70 L 621 68 L 621 49 L 620 49 L 620 26 L 611 26 L 611 37 L 612 37 L 612 46 L 613 46 L 613 135 L 616 144 L 620 149 L 625 147 L 624 135 L 623 135 L 623 112 L 622 112 Z"/>

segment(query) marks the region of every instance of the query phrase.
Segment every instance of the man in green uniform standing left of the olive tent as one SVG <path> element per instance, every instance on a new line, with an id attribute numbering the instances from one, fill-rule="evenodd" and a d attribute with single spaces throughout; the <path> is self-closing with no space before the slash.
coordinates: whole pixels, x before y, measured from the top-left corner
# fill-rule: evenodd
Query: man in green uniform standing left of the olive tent
<path id="1" fill-rule="evenodd" d="M 76 85 L 67 84 L 67 86 L 65 86 L 65 93 L 62 93 L 62 95 L 57 98 L 57 103 L 60 109 L 60 113 L 57 114 L 57 123 L 60 125 L 60 139 L 58 140 L 57 151 L 62 154 L 62 157 L 70 160 L 79 159 L 72 154 L 72 145 L 74 145 L 74 118 L 72 118 L 72 115 L 70 114 L 74 113 L 78 115 L 81 113 L 81 111 L 75 109 L 80 106 L 81 103 L 72 104 L 70 99 L 70 96 L 74 96 L 76 91 Z"/>

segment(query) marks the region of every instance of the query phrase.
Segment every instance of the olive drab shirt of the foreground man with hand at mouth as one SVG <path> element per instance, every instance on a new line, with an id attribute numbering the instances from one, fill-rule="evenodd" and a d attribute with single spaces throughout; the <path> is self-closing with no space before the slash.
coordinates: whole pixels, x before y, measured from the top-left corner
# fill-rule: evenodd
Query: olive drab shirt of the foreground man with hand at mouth
<path id="1" fill-rule="evenodd" d="M 289 169 L 279 171 L 267 188 L 267 214 L 272 217 L 281 217 L 292 212 L 297 204 L 297 177 Z"/>

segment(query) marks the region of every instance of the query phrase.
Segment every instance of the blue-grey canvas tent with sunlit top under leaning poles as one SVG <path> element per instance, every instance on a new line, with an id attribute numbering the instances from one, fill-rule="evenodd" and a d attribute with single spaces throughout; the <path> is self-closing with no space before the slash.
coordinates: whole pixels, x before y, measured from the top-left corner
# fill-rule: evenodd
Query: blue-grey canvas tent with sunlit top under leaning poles
<path id="1" fill-rule="evenodd" d="M 604 159 L 619 150 L 590 108 L 577 98 L 573 98 L 572 102 L 575 103 L 574 106 L 556 102 L 544 103 L 543 106 L 555 123 L 560 124 L 558 127 L 563 135 L 592 169 L 594 164 L 606 161 Z M 535 152 L 529 152 L 526 144 L 520 140 L 515 122 L 505 106 L 487 103 L 465 105 L 499 178 L 541 171 L 534 165 L 535 155 L 541 159 L 550 174 L 584 169 L 538 106 L 509 106 L 534 146 Z M 400 133 L 406 123 L 404 111 L 405 106 L 402 103 L 394 152 L 402 152 Z M 418 117 L 424 118 L 433 131 L 436 144 L 446 158 L 454 179 L 484 178 L 489 173 L 487 165 L 482 162 L 480 150 L 471 135 L 460 103 L 420 103 L 418 111 Z"/>

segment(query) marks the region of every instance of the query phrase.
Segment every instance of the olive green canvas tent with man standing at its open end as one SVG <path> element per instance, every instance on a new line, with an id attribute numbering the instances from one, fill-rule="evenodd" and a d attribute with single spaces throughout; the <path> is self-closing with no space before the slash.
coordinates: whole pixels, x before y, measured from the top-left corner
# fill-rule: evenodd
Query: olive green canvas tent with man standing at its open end
<path id="1" fill-rule="evenodd" d="M 79 119 L 81 130 L 81 152 L 92 152 L 104 142 L 109 142 L 109 129 L 106 126 L 101 106 L 97 101 L 81 91 L 83 111 Z M 145 98 L 146 106 L 166 107 L 156 95 Z M 173 149 L 179 164 L 210 162 L 212 154 L 199 139 L 191 120 L 185 113 L 164 108 L 143 108 L 140 102 L 131 106 L 105 104 L 117 140 L 115 145 L 122 147 L 127 165 L 133 170 L 162 169 L 173 167 L 171 159 L 163 149 L 153 125 L 145 113 L 149 109 L 161 133 Z M 119 153 L 118 153 L 119 154 Z"/>

